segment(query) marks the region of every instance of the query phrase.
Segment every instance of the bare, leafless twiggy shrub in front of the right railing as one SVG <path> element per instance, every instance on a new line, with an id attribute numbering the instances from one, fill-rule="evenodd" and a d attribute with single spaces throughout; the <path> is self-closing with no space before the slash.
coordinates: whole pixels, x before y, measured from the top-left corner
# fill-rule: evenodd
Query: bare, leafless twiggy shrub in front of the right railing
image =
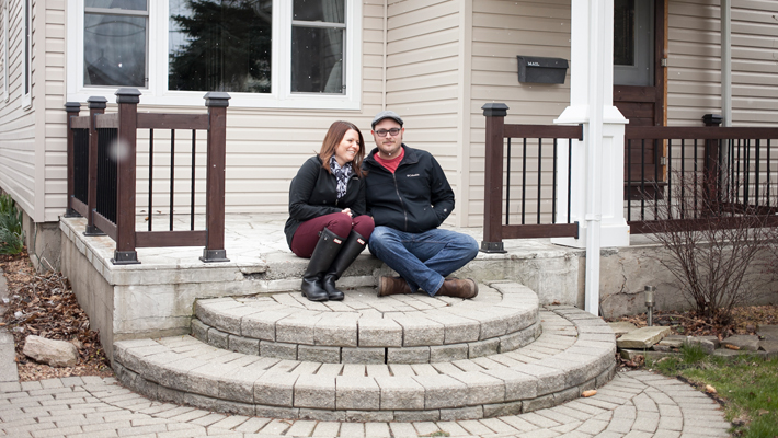
<path id="1" fill-rule="evenodd" d="M 726 325 L 732 309 L 748 302 L 760 283 L 754 266 L 764 256 L 773 231 L 768 215 L 741 201 L 743 184 L 712 171 L 673 174 L 672 196 L 656 203 L 649 238 L 670 254 L 659 262 L 677 279 L 683 297 L 698 315 Z M 654 200 L 654 199 L 651 199 Z"/>

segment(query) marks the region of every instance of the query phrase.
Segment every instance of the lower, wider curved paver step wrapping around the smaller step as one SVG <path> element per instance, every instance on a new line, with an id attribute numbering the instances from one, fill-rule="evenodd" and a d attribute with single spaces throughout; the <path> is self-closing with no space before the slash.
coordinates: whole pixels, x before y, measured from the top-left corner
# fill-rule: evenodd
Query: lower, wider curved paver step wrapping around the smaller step
<path id="1" fill-rule="evenodd" d="M 156 400 L 317 420 L 448 420 L 530 412 L 580 396 L 615 371 L 613 331 L 570 307 L 508 353 L 436 364 L 323 364 L 244 355 L 192 336 L 114 344 L 114 370 Z"/>

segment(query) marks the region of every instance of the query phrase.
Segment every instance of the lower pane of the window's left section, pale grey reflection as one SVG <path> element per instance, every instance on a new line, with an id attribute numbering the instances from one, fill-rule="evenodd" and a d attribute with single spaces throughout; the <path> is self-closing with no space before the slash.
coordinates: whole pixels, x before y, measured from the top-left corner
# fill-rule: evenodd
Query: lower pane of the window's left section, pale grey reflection
<path id="1" fill-rule="evenodd" d="M 85 14 L 84 85 L 146 87 L 146 18 Z"/>

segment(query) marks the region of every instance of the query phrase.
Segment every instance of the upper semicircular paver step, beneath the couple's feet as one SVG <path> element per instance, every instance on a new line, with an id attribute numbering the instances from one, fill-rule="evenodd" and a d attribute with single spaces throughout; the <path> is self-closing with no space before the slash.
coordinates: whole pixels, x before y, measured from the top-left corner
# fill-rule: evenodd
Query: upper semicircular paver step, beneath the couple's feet
<path id="1" fill-rule="evenodd" d="M 507 353 L 540 335 L 538 297 L 515 283 L 479 285 L 470 300 L 425 293 L 343 301 L 300 292 L 198 300 L 194 336 L 214 347 L 278 359 L 423 364 Z"/>

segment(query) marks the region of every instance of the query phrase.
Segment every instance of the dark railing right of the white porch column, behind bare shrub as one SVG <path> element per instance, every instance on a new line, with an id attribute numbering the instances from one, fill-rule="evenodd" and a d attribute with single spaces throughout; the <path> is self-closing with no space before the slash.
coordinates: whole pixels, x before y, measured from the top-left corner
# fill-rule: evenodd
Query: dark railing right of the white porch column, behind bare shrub
<path id="1" fill-rule="evenodd" d="M 778 128 L 719 127 L 720 117 L 703 119 L 707 127 L 627 127 L 626 217 L 632 233 L 652 232 L 650 222 L 657 220 L 694 227 L 720 211 L 775 212 L 778 151 L 771 149 Z M 660 152 L 656 165 L 629 153 L 644 145 Z M 647 166 L 652 172 L 634 172 Z"/>

